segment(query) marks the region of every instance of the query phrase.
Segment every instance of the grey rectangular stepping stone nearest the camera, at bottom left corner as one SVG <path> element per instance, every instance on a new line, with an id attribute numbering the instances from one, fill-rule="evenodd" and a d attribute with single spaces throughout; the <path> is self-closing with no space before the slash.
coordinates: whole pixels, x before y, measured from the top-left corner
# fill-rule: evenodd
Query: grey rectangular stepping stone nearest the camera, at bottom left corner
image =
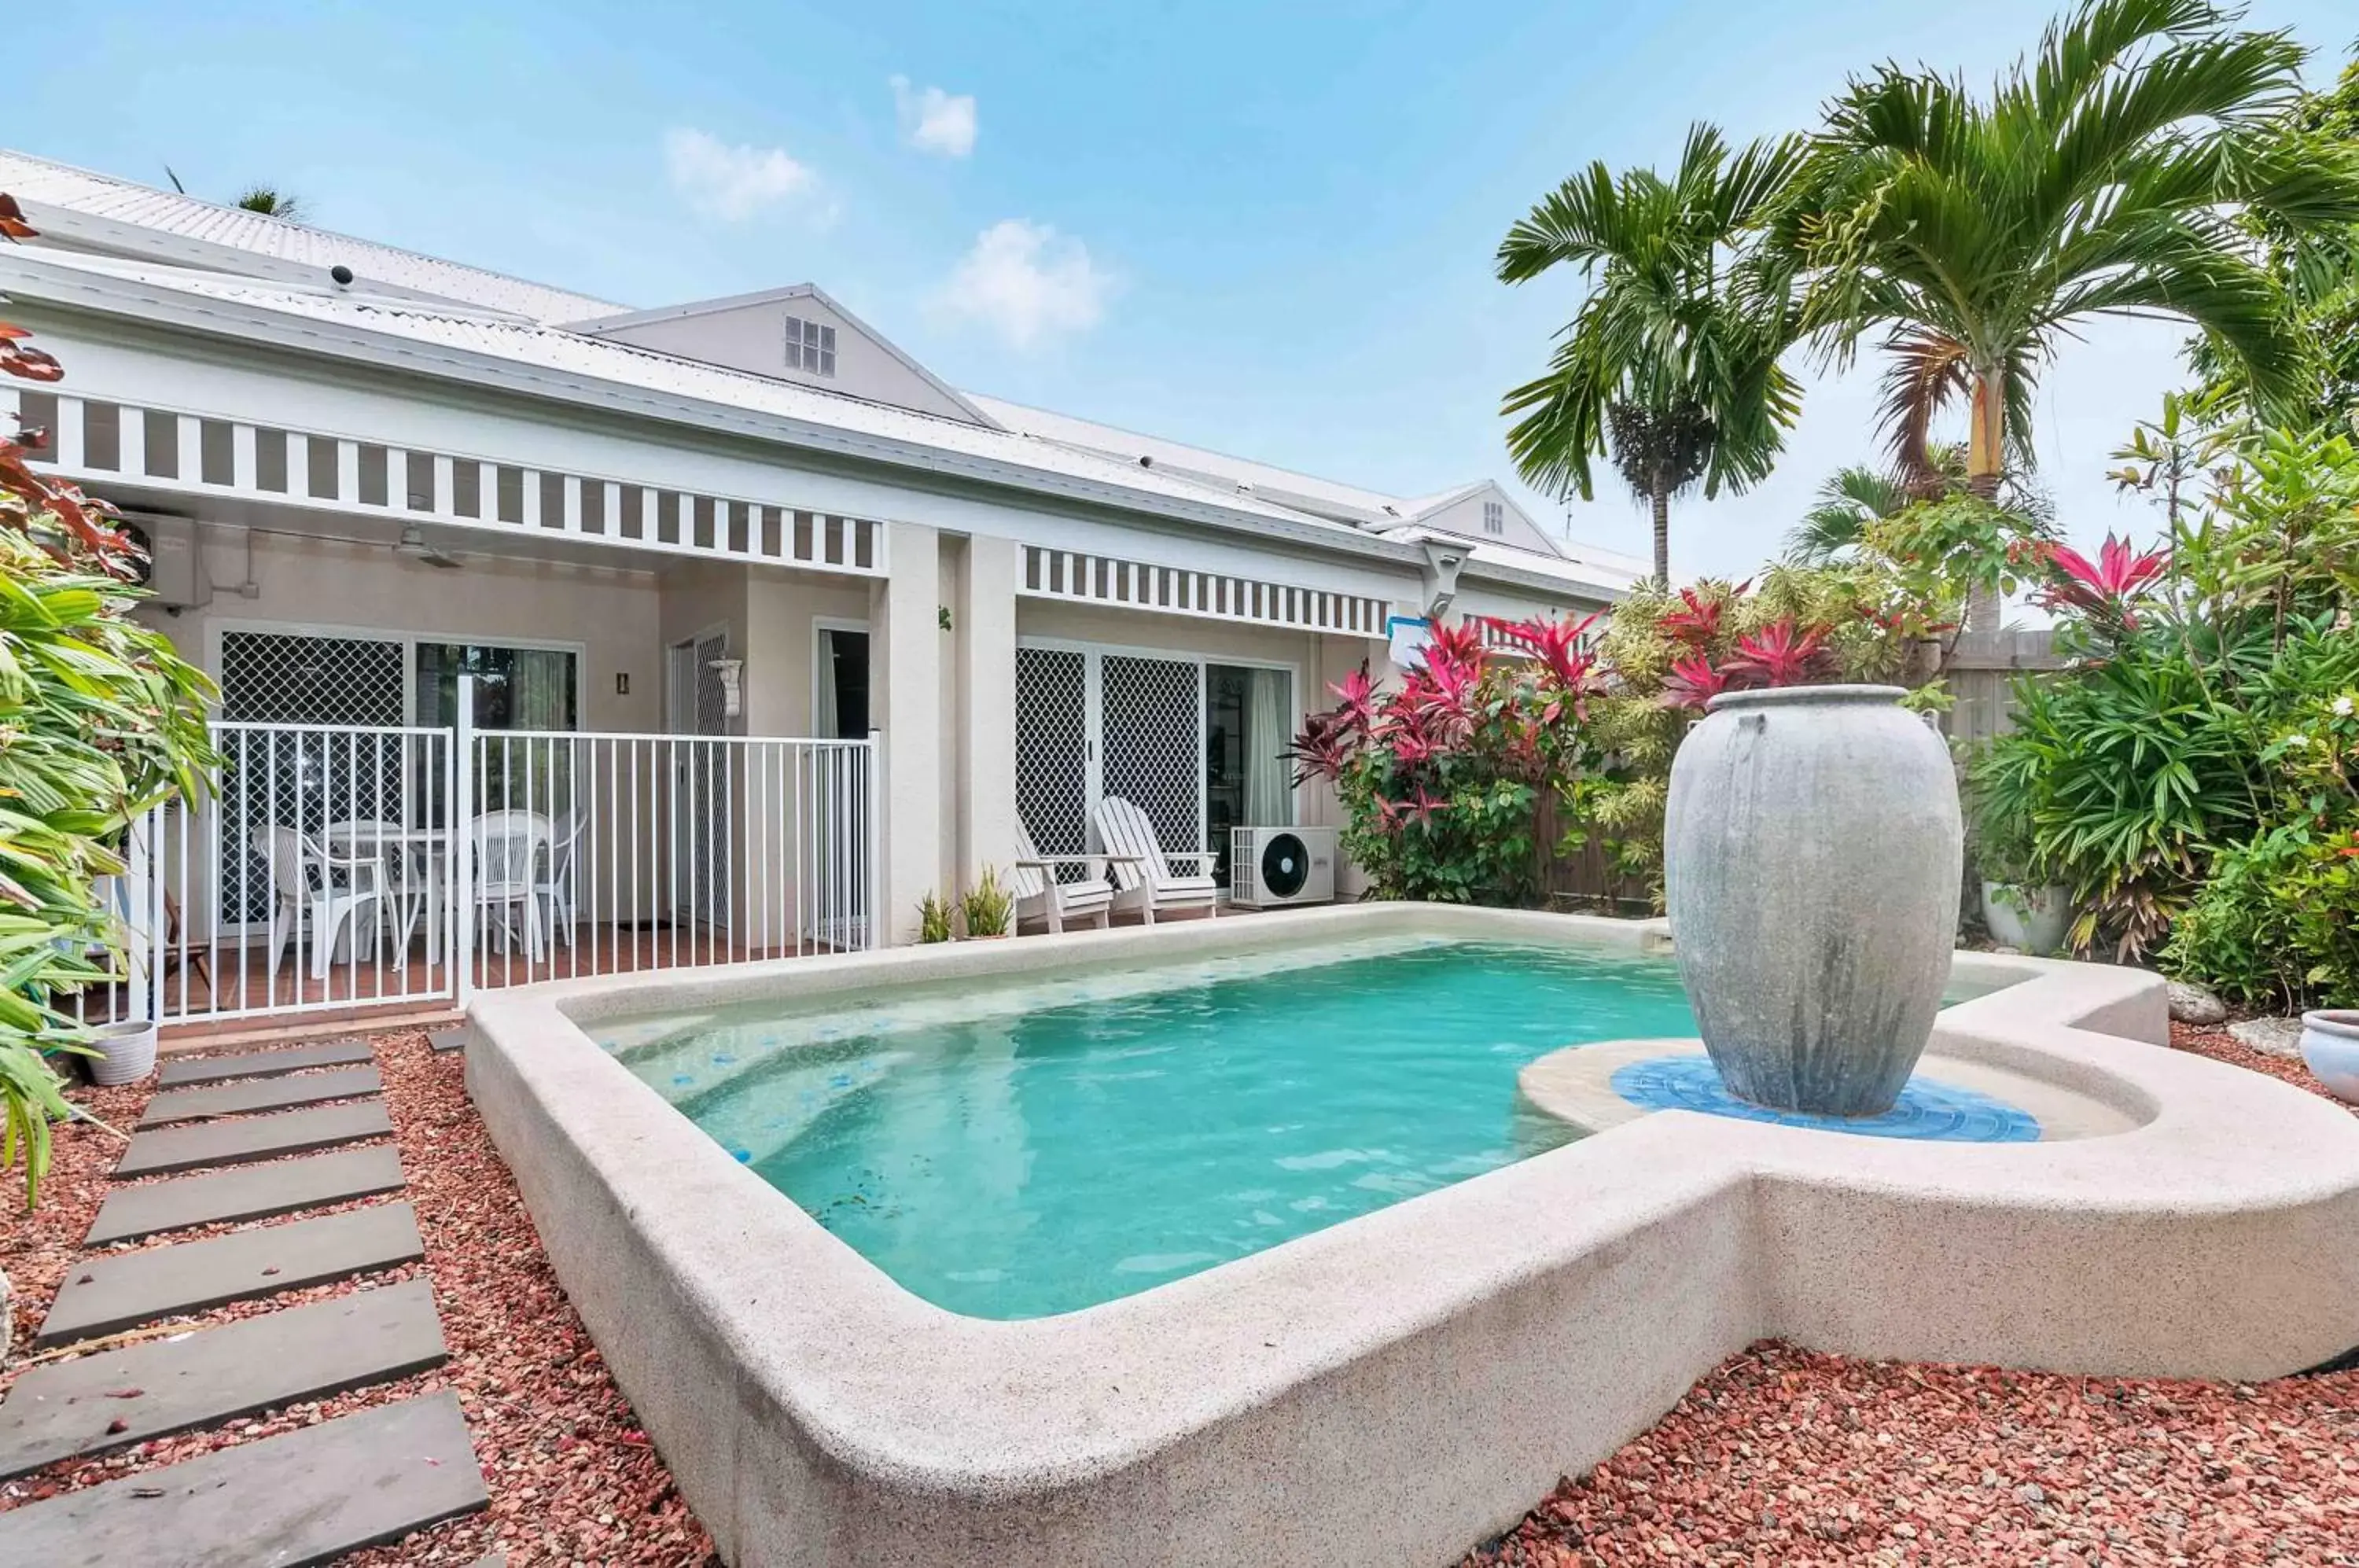
<path id="1" fill-rule="evenodd" d="M 0 1563 L 304 1568 L 491 1502 L 448 1389 L 0 1514 Z"/>

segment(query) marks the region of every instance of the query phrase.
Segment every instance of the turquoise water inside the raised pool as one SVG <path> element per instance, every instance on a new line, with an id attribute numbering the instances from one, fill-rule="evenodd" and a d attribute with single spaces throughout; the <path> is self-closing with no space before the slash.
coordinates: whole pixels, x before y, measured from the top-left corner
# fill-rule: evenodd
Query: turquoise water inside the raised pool
<path id="1" fill-rule="evenodd" d="M 1668 960 L 1422 943 L 811 1014 L 609 1049 L 911 1292 L 1095 1306 L 1562 1141 L 1517 1070 L 1694 1035 Z"/>

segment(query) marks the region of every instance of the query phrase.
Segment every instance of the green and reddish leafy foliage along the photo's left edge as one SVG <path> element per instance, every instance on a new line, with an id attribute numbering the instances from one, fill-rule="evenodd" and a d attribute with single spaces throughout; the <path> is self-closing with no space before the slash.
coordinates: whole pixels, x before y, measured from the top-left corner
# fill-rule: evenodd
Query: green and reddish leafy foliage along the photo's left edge
<path id="1" fill-rule="evenodd" d="M 0 233 L 31 233 L 0 196 Z M 0 373 L 61 368 L 0 323 Z M 0 1162 L 40 1193 L 50 1125 L 71 1113 L 54 1056 L 85 1033 L 64 993 L 120 943 L 97 879 L 120 872 L 127 823 L 196 795 L 210 762 L 205 677 L 130 618 L 134 547 L 101 502 L 26 465 L 40 431 L 0 439 Z"/>

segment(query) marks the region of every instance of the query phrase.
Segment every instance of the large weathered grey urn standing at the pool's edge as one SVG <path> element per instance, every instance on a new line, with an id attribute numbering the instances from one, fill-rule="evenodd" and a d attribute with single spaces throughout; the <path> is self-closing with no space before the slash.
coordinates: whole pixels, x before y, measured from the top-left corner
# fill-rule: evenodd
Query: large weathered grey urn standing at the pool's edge
<path id="1" fill-rule="evenodd" d="M 1703 1049 L 1739 1099 L 1892 1108 L 1941 1007 L 1965 828 L 1899 686 L 1710 700 L 1670 766 L 1665 894 Z"/>

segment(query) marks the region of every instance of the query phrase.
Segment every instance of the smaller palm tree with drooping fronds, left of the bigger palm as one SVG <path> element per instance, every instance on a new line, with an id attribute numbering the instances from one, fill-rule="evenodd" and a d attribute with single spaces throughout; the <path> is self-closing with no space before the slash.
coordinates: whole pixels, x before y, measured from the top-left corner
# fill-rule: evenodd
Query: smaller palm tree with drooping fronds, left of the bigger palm
<path id="1" fill-rule="evenodd" d="M 1736 252 L 1800 156 L 1800 139 L 1732 156 L 1715 127 L 1696 125 L 1668 179 L 1592 163 L 1498 248 L 1505 283 L 1557 264 L 1590 283 L 1548 375 L 1505 398 L 1519 415 L 1507 450 L 1533 488 L 1583 498 L 1590 460 L 1609 453 L 1654 514 L 1654 575 L 1665 585 L 1670 500 L 1698 483 L 1706 495 L 1757 483 L 1800 410 L 1776 363 L 1793 342 L 1790 299 L 1757 290 Z"/>

